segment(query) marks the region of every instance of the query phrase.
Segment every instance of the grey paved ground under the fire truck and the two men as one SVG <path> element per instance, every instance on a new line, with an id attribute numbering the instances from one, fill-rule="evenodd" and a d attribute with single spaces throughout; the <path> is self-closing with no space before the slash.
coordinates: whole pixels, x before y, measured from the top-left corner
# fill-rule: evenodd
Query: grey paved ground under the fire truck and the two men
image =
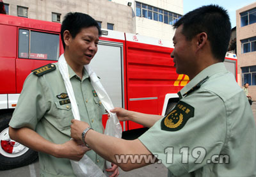
<path id="1" fill-rule="evenodd" d="M 252 104 L 252 111 L 253 116 L 256 122 L 256 102 L 253 102 Z M 167 176 L 167 169 L 164 167 L 163 164 L 152 164 L 148 165 L 146 167 L 143 167 L 141 169 L 134 169 L 129 172 L 124 172 L 122 169 L 120 169 L 120 176 L 129 177 L 129 176 L 157 176 L 157 177 L 166 177 Z M 38 162 L 35 162 L 34 164 L 20 167 L 17 169 L 12 169 L 8 171 L 0 171 L 0 176 L 5 177 L 13 177 L 13 176 L 21 176 L 21 177 L 39 177 L 39 164 Z"/>

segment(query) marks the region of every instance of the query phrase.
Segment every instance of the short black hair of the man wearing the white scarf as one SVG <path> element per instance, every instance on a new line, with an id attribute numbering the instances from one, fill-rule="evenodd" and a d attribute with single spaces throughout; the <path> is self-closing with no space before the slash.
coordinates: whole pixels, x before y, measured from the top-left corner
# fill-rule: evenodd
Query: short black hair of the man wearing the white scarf
<path id="1" fill-rule="evenodd" d="M 80 12 L 70 12 L 64 17 L 64 20 L 61 24 L 61 41 L 65 49 L 65 42 L 63 38 L 64 31 L 68 30 L 72 38 L 75 38 L 76 35 L 81 31 L 83 27 L 97 27 L 99 31 L 99 36 L 101 35 L 101 30 L 99 24 L 94 20 L 90 15 Z"/>

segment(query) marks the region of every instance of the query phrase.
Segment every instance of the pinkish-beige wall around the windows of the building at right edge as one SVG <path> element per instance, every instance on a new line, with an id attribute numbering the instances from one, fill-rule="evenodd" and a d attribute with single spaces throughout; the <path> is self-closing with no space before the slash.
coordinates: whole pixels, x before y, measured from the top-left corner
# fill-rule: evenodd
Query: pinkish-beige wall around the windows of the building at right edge
<path id="1" fill-rule="evenodd" d="M 241 16 L 240 13 L 248 11 L 252 8 L 256 8 L 256 3 L 252 3 L 248 6 L 236 11 L 236 34 L 237 34 L 237 59 L 238 59 L 238 83 L 242 86 L 242 72 L 241 67 L 244 66 L 255 66 L 256 65 L 256 52 L 241 53 L 241 40 L 246 38 L 251 38 L 256 36 L 256 23 L 250 24 L 248 26 L 241 27 Z M 253 100 L 256 100 L 256 86 L 250 86 L 248 89 L 250 95 L 252 95 Z"/>

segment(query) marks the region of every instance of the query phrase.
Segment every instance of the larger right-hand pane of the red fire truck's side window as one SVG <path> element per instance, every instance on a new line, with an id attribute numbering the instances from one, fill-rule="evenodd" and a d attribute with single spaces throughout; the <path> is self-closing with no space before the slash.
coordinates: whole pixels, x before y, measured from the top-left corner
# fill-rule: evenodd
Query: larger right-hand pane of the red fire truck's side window
<path id="1" fill-rule="evenodd" d="M 57 60 L 60 51 L 59 35 L 31 31 L 31 59 Z"/>

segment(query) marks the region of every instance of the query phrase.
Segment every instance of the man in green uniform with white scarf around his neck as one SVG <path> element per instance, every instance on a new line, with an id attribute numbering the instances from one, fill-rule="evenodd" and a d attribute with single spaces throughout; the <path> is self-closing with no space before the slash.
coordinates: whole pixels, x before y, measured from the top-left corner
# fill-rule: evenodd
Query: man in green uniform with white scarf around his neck
<path id="1" fill-rule="evenodd" d="M 97 22 L 84 13 L 68 13 L 61 26 L 63 54 L 81 121 L 86 121 L 102 134 L 104 107 L 84 69 L 97 52 L 101 34 Z M 10 137 L 39 152 L 40 176 L 75 176 L 70 159 L 79 160 L 84 153 L 100 169 L 105 160 L 95 151 L 70 140 L 71 119 L 74 119 L 70 99 L 61 77 L 58 63 L 33 70 L 26 81 L 13 117 Z M 109 171 L 118 174 L 113 165 Z"/>

